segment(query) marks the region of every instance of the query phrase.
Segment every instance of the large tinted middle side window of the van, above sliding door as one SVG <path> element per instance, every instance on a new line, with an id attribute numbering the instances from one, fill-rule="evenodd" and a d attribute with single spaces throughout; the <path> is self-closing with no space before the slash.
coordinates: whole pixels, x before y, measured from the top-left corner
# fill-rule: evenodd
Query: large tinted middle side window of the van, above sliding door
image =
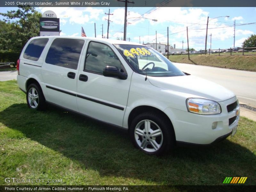
<path id="1" fill-rule="evenodd" d="M 84 40 L 82 39 L 54 39 L 45 62 L 60 67 L 77 69 L 83 45 Z"/>

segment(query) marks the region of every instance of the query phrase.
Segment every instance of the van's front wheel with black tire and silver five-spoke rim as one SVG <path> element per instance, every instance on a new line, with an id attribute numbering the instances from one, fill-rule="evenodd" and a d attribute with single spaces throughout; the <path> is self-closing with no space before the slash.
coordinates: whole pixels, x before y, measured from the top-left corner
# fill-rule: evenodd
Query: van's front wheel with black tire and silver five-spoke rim
<path id="1" fill-rule="evenodd" d="M 148 123 L 150 129 L 145 128 Z M 142 113 L 133 119 L 130 136 L 135 147 L 144 153 L 157 156 L 169 152 L 175 142 L 172 124 L 165 117 L 153 112 Z"/>

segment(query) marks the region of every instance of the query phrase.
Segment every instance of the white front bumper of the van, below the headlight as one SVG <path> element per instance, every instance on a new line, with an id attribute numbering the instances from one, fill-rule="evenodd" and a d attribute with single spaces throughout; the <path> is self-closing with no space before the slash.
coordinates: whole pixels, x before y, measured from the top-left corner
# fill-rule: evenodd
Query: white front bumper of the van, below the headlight
<path id="1" fill-rule="evenodd" d="M 227 138 L 239 121 L 239 103 L 230 112 L 227 106 L 236 102 L 233 97 L 226 101 L 218 102 L 222 112 L 217 115 L 199 115 L 174 108 L 166 108 L 165 114 L 172 121 L 177 143 L 210 145 Z M 217 122 L 215 129 L 212 124 Z"/>

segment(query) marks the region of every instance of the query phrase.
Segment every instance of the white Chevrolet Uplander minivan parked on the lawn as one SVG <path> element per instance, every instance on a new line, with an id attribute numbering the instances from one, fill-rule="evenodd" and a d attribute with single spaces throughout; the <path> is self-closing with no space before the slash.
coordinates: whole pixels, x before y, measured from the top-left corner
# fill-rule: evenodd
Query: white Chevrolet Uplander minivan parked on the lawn
<path id="1" fill-rule="evenodd" d="M 48 39 L 41 50 L 40 57 L 38 57 L 37 60 L 33 59 L 33 57 L 29 58 L 29 53 L 25 54 L 25 50 L 31 41 L 40 38 Z M 83 40 L 82 42 L 84 42 L 79 45 L 81 46 L 80 55 L 79 53 L 74 53 L 78 61 L 77 68 L 67 68 L 66 66 L 63 67 L 47 63 L 58 62 L 54 60 L 53 57 L 55 56 L 50 53 L 49 50 L 58 50 L 58 47 L 54 47 L 52 43 L 54 41 L 61 43 L 61 41 L 65 39 L 75 39 L 74 41 L 79 42 Z M 124 78 L 126 79 L 104 76 L 97 72 L 94 73 L 85 70 L 86 67 L 84 65 L 86 65 L 85 60 L 87 60 L 87 57 L 91 60 L 101 57 L 101 53 L 97 55 L 88 51 L 88 46 L 91 42 L 95 44 L 95 47 L 99 44 L 102 45 L 101 47 L 106 46 L 106 48 L 102 48 L 102 53 L 106 50 L 106 52 L 111 50 L 114 52 L 109 56 L 110 60 L 119 60 L 121 62 L 121 71 L 125 73 L 126 77 Z M 36 108 L 35 106 L 33 107 L 33 101 L 36 100 L 38 96 L 35 95 L 32 97 L 31 94 L 33 94 L 33 91 L 38 92 L 40 90 L 37 89 L 41 89 L 45 102 L 47 103 L 127 130 L 130 130 L 133 125 L 133 120 L 136 119 L 137 116 L 147 113 L 148 111 L 155 114 L 160 120 L 166 117 L 164 119 L 165 124 L 167 124 L 167 127 L 169 126 L 172 131 L 164 133 L 159 125 L 161 122 L 157 123 L 157 120 L 154 121 L 154 118 L 151 118 L 150 114 L 148 117 L 147 114 L 144 115 L 148 120 L 144 121 L 145 125 L 143 126 L 145 127 L 142 128 L 142 130 L 146 129 L 146 124 L 149 122 L 149 128 L 150 125 L 159 127 L 159 129 L 155 129 L 160 130 L 162 134 L 160 135 L 162 139 L 157 142 L 156 146 L 152 144 L 150 147 L 150 142 L 152 143 L 156 139 L 153 137 L 153 140 L 151 140 L 152 137 L 148 134 L 149 132 L 146 133 L 142 131 L 142 133 L 136 133 L 135 131 L 131 133 L 131 136 L 134 135 L 135 137 L 135 144 L 136 140 L 139 140 L 137 147 L 149 154 L 161 154 L 163 151 L 162 149 L 160 150 L 160 148 L 165 140 L 172 139 L 176 144 L 209 145 L 225 139 L 232 132 L 235 134 L 239 120 L 239 103 L 233 92 L 218 84 L 189 74 L 182 74 L 180 76 L 148 75 L 147 71 L 152 71 L 153 68 L 160 70 L 159 67 L 155 67 L 155 64 L 160 63 L 160 61 L 155 61 L 152 68 L 146 68 L 146 74 L 144 72 L 143 74 L 139 74 L 129 65 L 127 62 L 128 57 L 124 57 L 123 52 L 117 49 L 117 45 L 120 47 L 129 45 L 135 48 L 136 46 L 140 48 L 143 46 L 148 50 L 150 49 L 148 54 L 155 55 L 158 61 L 165 60 L 164 56 L 160 53 L 157 55 L 150 47 L 126 41 L 65 36 L 31 38 L 21 52 L 18 66 L 19 75 L 17 76 L 20 89 L 27 93 L 27 101 L 32 103 L 32 105 L 28 103 L 28 106 L 30 108 Z M 50 48 L 51 46 L 52 48 Z M 143 50 L 145 49 L 143 48 Z M 132 51 L 128 51 L 129 57 L 132 56 L 129 55 L 131 52 Z M 136 54 L 138 54 L 138 52 Z M 70 57 L 72 58 L 72 54 L 70 54 Z M 69 56 L 67 57 L 67 64 L 63 65 L 68 65 L 68 60 L 71 60 Z M 107 61 L 104 62 L 106 66 L 111 63 Z M 145 63 L 147 64 L 147 62 Z M 161 70 L 164 72 L 167 71 L 167 69 Z M 37 84 L 37 87 L 40 87 L 36 88 L 34 86 L 35 88 L 32 88 L 30 93 L 28 93 L 28 88 L 31 84 Z M 220 110 L 218 114 L 198 114 L 200 110 L 197 109 L 198 104 L 196 103 L 202 101 L 204 105 L 204 102 L 207 100 L 209 100 L 209 104 L 207 103 L 206 107 L 210 106 L 214 108 L 211 110 Z M 195 103 L 193 103 L 193 101 L 195 101 Z M 205 106 L 203 108 L 205 108 Z M 201 111 L 203 111 L 203 109 Z M 134 126 L 137 127 L 134 129 L 138 130 L 140 124 L 137 122 L 137 125 Z M 165 138 L 164 134 L 172 134 L 172 137 Z M 158 136 L 159 135 L 156 135 L 156 137 Z M 148 141 L 148 144 L 145 143 L 144 140 L 145 142 Z"/>

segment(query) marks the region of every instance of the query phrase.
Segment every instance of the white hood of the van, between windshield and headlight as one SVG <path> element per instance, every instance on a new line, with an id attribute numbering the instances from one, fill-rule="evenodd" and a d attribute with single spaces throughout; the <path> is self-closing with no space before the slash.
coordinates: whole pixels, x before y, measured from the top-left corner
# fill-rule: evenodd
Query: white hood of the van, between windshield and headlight
<path id="1" fill-rule="evenodd" d="M 217 102 L 235 97 L 235 94 L 225 87 L 192 75 L 175 77 L 148 76 L 148 80 L 156 87 L 192 94 L 196 97 L 206 98 Z"/>

